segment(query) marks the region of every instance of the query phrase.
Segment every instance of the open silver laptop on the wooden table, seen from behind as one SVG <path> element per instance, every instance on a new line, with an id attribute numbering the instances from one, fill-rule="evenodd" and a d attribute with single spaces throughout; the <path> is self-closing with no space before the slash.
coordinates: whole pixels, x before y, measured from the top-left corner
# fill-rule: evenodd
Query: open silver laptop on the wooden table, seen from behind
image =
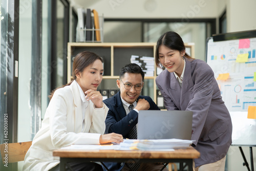
<path id="1" fill-rule="evenodd" d="M 191 139 L 193 112 L 140 111 L 138 139 Z"/>

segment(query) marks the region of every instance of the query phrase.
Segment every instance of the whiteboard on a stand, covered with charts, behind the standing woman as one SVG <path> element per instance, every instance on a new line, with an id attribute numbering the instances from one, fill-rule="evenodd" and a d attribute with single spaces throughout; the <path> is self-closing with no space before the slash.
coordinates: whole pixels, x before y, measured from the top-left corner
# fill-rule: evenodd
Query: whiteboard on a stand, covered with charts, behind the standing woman
<path id="1" fill-rule="evenodd" d="M 232 120 L 232 145 L 256 146 L 256 119 L 248 119 L 248 106 L 256 106 L 256 38 L 213 41 L 206 45 L 206 62 L 215 73 L 229 73 L 227 80 L 217 80 L 221 96 Z M 242 48 L 243 47 L 243 48 Z M 248 53 L 246 62 L 236 62 L 239 54 Z M 255 76 L 256 77 L 256 76 Z"/>

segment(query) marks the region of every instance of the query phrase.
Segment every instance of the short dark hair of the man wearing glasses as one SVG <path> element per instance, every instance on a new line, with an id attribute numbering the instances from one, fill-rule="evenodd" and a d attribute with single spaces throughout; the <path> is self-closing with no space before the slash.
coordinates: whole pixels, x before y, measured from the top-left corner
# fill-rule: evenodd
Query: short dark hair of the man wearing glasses
<path id="1" fill-rule="evenodd" d="M 141 74 L 142 76 L 142 81 L 144 80 L 144 72 L 138 66 L 136 63 L 129 63 L 125 65 L 123 68 L 121 68 L 119 72 L 119 78 L 122 78 L 125 73 L 132 73 L 132 74 Z"/>

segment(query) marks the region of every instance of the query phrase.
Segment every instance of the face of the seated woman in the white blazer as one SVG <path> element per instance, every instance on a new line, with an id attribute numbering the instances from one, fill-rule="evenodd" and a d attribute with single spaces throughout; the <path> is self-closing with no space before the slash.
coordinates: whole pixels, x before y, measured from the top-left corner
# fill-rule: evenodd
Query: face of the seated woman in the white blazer
<path id="1" fill-rule="evenodd" d="M 83 69 L 82 72 L 76 74 L 76 81 L 85 92 L 89 89 L 97 90 L 103 75 L 102 62 L 97 59 L 92 65 Z"/>

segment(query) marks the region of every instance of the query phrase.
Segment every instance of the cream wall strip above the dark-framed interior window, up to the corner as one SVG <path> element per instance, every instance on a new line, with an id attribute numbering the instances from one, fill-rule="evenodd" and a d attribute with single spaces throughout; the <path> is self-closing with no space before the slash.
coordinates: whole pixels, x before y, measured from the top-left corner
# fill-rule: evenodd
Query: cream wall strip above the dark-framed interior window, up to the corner
<path id="1" fill-rule="evenodd" d="M 75 0 L 76 7 L 96 9 L 106 18 L 215 18 L 217 1 L 211 0 Z"/>

